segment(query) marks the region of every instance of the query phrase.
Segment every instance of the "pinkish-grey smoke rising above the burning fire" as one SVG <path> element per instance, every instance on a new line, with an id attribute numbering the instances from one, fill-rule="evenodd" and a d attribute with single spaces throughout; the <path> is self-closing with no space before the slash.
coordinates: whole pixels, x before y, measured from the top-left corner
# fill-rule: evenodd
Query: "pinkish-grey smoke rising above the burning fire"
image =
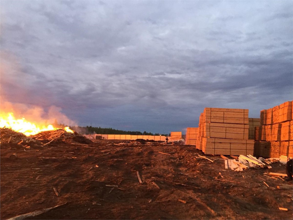
<path id="1" fill-rule="evenodd" d="M 31 123 L 47 126 L 48 124 L 64 124 L 76 126 L 77 123 L 70 120 L 62 113 L 62 109 L 50 105 L 52 94 L 38 89 L 38 82 L 33 77 L 23 72 L 18 62 L 18 57 L 7 51 L 1 51 L 0 59 L 0 113 L 12 112 L 16 119 L 25 118 Z M 33 85 L 32 85 L 33 84 Z M 43 88 L 46 90 L 46 88 Z M 51 97 L 51 99 L 50 99 Z M 36 103 L 40 104 L 37 105 Z M 49 106 L 43 108 L 42 106 Z"/>

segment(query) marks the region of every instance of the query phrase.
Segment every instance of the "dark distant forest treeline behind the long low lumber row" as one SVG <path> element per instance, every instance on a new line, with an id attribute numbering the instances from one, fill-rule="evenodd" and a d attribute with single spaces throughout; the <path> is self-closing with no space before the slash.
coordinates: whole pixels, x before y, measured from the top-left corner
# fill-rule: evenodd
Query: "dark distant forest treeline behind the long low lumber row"
<path id="1" fill-rule="evenodd" d="M 150 133 L 150 132 L 140 132 L 140 131 L 122 131 L 122 130 L 116 130 L 113 128 L 101 128 L 101 127 L 92 127 L 92 126 L 70 126 L 70 129 L 76 131 L 77 133 L 82 134 L 131 134 L 131 135 L 151 135 L 151 136 L 168 136 L 168 134 L 159 134 L 159 133 Z M 170 136 L 170 134 L 169 134 Z"/>

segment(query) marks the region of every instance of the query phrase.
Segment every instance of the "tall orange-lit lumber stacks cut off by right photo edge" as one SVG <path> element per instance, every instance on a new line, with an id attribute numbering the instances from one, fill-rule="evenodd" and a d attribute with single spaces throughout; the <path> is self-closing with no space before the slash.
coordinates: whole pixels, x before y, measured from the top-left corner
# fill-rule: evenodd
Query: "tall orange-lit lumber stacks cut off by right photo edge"
<path id="1" fill-rule="evenodd" d="M 292 101 L 260 111 L 260 126 L 255 129 L 255 155 L 293 157 L 292 114 Z"/>

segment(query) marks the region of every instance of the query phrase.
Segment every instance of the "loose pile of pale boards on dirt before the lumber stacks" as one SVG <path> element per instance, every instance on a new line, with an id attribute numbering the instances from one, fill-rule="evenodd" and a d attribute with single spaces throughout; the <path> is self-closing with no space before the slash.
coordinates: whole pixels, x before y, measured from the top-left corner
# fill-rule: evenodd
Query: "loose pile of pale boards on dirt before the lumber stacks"
<path id="1" fill-rule="evenodd" d="M 264 159 L 262 157 L 256 158 L 253 157 L 252 155 L 239 155 L 238 161 L 236 159 L 230 160 L 230 159 L 225 159 L 225 169 L 231 169 L 234 171 L 243 171 L 245 169 L 249 168 L 265 168 L 268 167 L 271 169 L 272 167 L 270 166 L 271 163 L 278 162 L 279 158 L 268 158 Z"/>

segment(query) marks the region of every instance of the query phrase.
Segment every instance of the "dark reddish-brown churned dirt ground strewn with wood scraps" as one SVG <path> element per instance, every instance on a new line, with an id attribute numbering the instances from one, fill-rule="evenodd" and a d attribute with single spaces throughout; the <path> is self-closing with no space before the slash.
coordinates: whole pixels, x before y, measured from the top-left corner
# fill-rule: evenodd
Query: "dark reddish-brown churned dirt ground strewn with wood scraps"
<path id="1" fill-rule="evenodd" d="M 226 170 L 219 156 L 205 155 L 217 159 L 214 163 L 195 158 L 203 153 L 194 146 L 135 141 L 117 145 L 121 142 L 97 141 L 88 147 L 52 142 L 30 149 L 1 144 L 0 218 L 64 203 L 28 219 L 293 218 L 293 190 L 276 189 L 292 182 L 264 175 L 285 173 L 280 163 L 270 170 L 235 172 Z M 18 158 L 9 158 L 13 153 Z"/>

